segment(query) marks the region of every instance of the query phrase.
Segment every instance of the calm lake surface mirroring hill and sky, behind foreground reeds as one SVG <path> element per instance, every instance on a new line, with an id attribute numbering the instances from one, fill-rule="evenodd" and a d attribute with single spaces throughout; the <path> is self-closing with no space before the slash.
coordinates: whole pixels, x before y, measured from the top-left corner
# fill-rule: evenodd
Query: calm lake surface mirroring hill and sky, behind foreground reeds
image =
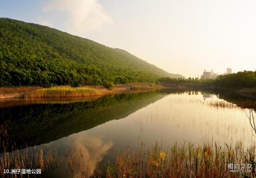
<path id="1" fill-rule="evenodd" d="M 91 172 L 116 152 L 205 142 L 254 144 L 256 100 L 212 91 L 158 90 L 90 99 L 1 101 L 5 149 L 83 152 Z M 252 119 L 252 118 L 251 118 Z M 7 135 L 7 136 L 6 136 Z M 34 147 L 35 145 L 35 147 Z M 2 145 L 3 146 L 3 145 Z M 1 151 L 3 152 L 3 150 Z"/>

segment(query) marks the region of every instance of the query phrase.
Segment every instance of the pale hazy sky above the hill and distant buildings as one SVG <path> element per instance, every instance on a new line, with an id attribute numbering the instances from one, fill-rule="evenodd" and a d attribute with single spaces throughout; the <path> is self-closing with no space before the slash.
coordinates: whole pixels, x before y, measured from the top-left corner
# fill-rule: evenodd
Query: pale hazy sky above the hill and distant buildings
<path id="1" fill-rule="evenodd" d="M 255 0 L 1 0 L 0 17 L 122 48 L 186 77 L 256 70 Z"/>

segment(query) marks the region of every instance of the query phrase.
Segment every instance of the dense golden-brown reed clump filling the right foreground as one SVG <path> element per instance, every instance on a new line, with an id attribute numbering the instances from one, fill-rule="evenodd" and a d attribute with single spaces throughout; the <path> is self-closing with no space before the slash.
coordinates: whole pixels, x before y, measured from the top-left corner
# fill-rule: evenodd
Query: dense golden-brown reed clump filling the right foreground
<path id="1" fill-rule="evenodd" d="M 251 173 L 230 172 L 228 164 L 251 164 Z M 255 147 L 244 149 L 217 144 L 174 143 L 163 151 L 156 145 L 144 152 L 125 152 L 116 156 L 114 166 L 107 168 L 107 177 L 255 177 Z"/>

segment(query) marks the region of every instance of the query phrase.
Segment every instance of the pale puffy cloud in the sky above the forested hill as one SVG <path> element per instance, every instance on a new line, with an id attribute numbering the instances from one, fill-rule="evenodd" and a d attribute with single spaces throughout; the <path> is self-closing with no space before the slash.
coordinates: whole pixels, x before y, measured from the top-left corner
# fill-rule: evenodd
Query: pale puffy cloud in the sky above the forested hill
<path id="1" fill-rule="evenodd" d="M 63 28 L 77 35 L 112 23 L 97 0 L 48 0 L 42 4 L 42 10 L 39 23 L 53 26 L 61 23 Z"/>

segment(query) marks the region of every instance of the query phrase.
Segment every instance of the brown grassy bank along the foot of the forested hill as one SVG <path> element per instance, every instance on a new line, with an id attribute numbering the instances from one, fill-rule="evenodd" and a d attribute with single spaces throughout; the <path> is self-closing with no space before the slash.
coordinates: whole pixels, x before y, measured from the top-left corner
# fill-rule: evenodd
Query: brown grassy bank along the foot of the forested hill
<path id="1" fill-rule="evenodd" d="M 106 88 L 101 85 L 95 86 L 53 86 L 49 88 L 39 86 L 0 87 L 0 100 L 2 99 L 38 99 L 38 98 L 78 98 L 103 96 L 107 94 L 125 93 L 129 91 L 145 91 L 166 88 L 151 83 L 130 83 L 115 85 Z"/>

